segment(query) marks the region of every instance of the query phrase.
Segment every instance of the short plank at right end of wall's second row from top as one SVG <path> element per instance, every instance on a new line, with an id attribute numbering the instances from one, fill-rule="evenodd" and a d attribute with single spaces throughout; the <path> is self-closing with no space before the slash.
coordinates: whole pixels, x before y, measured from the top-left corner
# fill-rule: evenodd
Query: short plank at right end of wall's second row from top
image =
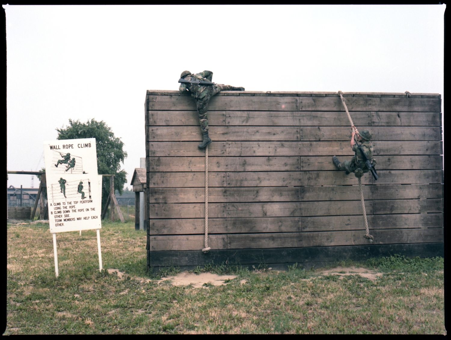
<path id="1" fill-rule="evenodd" d="M 442 126 L 442 114 L 437 112 L 371 112 L 372 126 Z M 354 119 L 353 119 L 354 121 Z M 354 122 L 354 125 L 356 123 Z M 356 125 L 357 126 L 357 125 Z"/>

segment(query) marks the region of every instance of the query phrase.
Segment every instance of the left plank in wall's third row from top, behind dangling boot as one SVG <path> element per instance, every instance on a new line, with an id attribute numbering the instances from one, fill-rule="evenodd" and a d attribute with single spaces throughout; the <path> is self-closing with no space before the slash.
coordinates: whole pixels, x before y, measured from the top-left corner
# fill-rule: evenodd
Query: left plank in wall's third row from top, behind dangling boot
<path id="1" fill-rule="evenodd" d="M 150 141 L 199 141 L 198 126 L 149 126 Z M 213 141 L 299 141 L 299 127 L 215 126 L 208 129 Z"/>

